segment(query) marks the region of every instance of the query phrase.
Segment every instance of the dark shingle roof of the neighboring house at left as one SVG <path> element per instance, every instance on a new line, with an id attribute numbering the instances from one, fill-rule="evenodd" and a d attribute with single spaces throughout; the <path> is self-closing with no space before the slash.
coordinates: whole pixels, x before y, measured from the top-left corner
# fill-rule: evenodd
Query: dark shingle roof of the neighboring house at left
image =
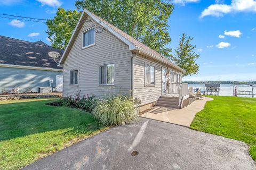
<path id="1" fill-rule="evenodd" d="M 30 43 L 0 36 L 0 64 L 62 69 L 57 66 L 54 56 L 57 53 L 61 56 L 63 50 L 43 45 L 42 43 L 40 41 Z M 49 53 L 52 55 L 50 56 Z M 59 59 L 60 57 L 57 58 L 57 62 L 59 62 Z"/>

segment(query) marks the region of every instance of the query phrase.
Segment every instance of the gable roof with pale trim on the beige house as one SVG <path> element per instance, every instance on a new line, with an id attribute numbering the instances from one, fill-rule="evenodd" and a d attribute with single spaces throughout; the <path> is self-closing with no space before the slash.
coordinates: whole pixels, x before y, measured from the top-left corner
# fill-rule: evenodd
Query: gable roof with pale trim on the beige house
<path id="1" fill-rule="evenodd" d="M 75 41 L 77 33 L 79 32 L 79 29 L 81 29 L 82 24 L 83 24 L 84 20 L 87 18 L 87 16 L 90 16 L 93 20 L 95 20 L 97 23 L 102 25 L 103 28 L 105 28 L 110 33 L 112 33 L 114 36 L 116 36 L 118 39 L 123 41 L 126 45 L 129 46 L 129 49 L 131 51 L 134 51 L 134 52 L 139 51 L 139 52 L 141 52 L 142 55 L 144 54 L 144 55 L 151 56 L 152 58 L 154 58 L 158 62 L 161 62 L 163 64 L 174 67 L 175 69 L 178 69 L 181 72 L 185 72 L 185 70 L 181 69 L 178 65 L 175 65 L 174 63 L 172 63 L 170 60 L 168 60 L 167 58 L 165 58 L 164 56 L 162 56 L 161 54 L 156 52 L 154 49 L 151 49 L 148 46 L 146 46 L 145 44 L 140 43 L 140 41 L 136 40 L 135 38 L 128 35 L 124 31 L 118 29 L 114 25 L 108 23 L 107 21 L 103 20 L 99 16 L 93 14 L 92 12 L 90 12 L 86 9 L 84 9 L 82 14 L 81 14 L 81 17 L 80 17 L 80 19 L 79 19 L 79 21 L 76 25 L 76 28 L 73 31 L 73 34 L 72 34 L 72 36 L 69 40 L 69 43 L 68 43 L 67 47 L 65 48 L 65 51 L 64 51 L 64 53 L 63 53 L 63 55 L 60 59 L 59 65 L 63 64 L 63 62 L 65 61 L 65 59 L 66 59 L 66 57 L 69 53 L 69 50 L 71 49 L 71 46 L 73 45 L 73 43 Z"/>

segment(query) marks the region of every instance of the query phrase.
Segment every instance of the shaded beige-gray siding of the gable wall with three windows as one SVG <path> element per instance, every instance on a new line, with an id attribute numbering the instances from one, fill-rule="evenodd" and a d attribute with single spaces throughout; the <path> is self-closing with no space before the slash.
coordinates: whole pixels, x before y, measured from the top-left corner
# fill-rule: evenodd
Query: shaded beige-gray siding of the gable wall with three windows
<path id="1" fill-rule="evenodd" d="M 90 20 L 90 19 L 89 19 Z M 91 19 L 92 20 L 92 19 Z M 85 22 L 63 63 L 63 95 L 73 95 L 81 90 L 82 95 L 94 94 L 102 97 L 109 92 L 131 94 L 131 56 L 129 47 L 107 30 L 95 35 L 95 45 L 82 49 L 82 32 L 93 27 L 94 20 Z M 101 33 L 100 33 L 101 32 Z M 115 86 L 99 86 L 99 65 L 115 64 Z M 79 84 L 69 84 L 69 71 L 79 70 Z"/>

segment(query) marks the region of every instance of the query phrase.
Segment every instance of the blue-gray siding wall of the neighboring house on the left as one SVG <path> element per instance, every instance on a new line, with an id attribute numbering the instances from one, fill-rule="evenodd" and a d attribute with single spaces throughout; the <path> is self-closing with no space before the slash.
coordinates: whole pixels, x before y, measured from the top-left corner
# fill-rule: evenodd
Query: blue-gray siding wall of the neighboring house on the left
<path id="1" fill-rule="evenodd" d="M 0 94 L 2 90 L 12 91 L 20 87 L 19 92 L 38 92 L 38 87 L 49 87 L 49 79 L 53 79 L 51 86 L 56 86 L 56 75 L 62 72 L 0 67 Z"/>

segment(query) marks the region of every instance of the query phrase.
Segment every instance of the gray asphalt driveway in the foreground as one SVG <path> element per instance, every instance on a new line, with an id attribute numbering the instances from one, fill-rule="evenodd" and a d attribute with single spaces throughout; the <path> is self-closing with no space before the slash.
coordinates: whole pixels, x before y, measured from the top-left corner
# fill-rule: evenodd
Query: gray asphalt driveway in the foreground
<path id="1" fill-rule="evenodd" d="M 137 156 L 132 156 L 137 151 Z M 256 169 L 245 143 L 140 118 L 24 169 Z"/>

